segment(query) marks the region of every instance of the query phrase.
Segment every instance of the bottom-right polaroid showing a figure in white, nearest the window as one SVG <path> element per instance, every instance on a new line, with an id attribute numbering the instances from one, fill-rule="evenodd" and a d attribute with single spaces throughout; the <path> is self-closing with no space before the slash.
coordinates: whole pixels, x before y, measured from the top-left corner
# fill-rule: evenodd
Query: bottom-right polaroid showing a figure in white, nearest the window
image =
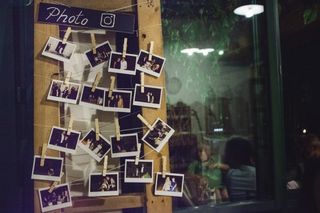
<path id="1" fill-rule="evenodd" d="M 155 195 L 165 195 L 173 197 L 182 197 L 184 175 L 176 173 L 166 173 L 162 177 L 161 172 L 156 173 Z"/>

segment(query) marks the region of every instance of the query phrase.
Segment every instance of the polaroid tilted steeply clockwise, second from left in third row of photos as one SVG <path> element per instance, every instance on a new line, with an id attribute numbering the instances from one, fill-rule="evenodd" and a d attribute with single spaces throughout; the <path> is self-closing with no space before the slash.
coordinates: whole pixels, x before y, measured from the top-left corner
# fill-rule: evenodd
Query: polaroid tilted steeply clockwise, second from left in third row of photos
<path id="1" fill-rule="evenodd" d="M 99 141 L 97 141 L 96 132 L 93 129 L 83 137 L 78 145 L 98 162 L 104 158 L 111 147 L 110 142 L 101 134 L 99 134 Z"/>

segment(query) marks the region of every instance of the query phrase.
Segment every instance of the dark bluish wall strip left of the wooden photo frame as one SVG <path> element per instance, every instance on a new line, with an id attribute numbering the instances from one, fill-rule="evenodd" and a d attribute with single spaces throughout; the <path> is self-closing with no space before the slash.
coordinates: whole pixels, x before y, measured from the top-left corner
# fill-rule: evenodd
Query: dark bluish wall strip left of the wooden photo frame
<path id="1" fill-rule="evenodd" d="M 1 212 L 33 212 L 33 6 L 0 6 Z"/>

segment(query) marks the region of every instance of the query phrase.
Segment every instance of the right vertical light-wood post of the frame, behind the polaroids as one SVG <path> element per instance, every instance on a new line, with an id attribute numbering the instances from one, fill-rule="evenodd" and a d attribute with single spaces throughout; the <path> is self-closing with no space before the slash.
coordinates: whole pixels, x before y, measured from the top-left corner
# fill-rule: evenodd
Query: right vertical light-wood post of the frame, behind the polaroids
<path id="1" fill-rule="evenodd" d="M 160 0 L 138 0 L 138 28 L 139 28 L 139 47 L 144 50 L 148 50 L 148 44 L 150 41 L 154 41 L 154 53 L 157 55 L 163 55 L 163 38 L 161 27 L 161 8 Z M 145 75 L 145 84 L 157 85 L 165 87 L 165 73 L 159 78 Z M 163 97 L 161 101 L 160 109 L 143 108 L 142 114 L 149 123 L 153 123 L 158 117 L 166 121 L 166 90 L 163 90 Z M 150 153 L 151 148 L 144 145 L 144 152 Z M 167 156 L 167 171 L 169 171 L 169 147 L 168 144 L 161 150 L 161 154 Z M 146 156 L 146 159 L 154 160 L 155 172 L 160 171 L 161 166 L 161 154 L 151 152 Z M 147 212 L 172 212 L 172 199 L 164 196 L 154 196 L 154 184 L 147 184 L 146 186 L 147 196 Z"/>

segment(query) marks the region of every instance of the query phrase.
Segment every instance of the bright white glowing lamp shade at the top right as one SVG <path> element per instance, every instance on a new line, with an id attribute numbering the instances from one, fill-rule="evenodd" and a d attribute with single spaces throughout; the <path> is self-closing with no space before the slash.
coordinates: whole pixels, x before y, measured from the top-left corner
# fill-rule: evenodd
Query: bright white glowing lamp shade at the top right
<path id="1" fill-rule="evenodd" d="M 264 6 L 257 3 L 257 1 L 250 0 L 240 0 L 239 6 L 233 11 L 235 14 L 240 16 L 245 16 L 246 18 L 251 18 L 255 15 L 264 12 Z"/>

